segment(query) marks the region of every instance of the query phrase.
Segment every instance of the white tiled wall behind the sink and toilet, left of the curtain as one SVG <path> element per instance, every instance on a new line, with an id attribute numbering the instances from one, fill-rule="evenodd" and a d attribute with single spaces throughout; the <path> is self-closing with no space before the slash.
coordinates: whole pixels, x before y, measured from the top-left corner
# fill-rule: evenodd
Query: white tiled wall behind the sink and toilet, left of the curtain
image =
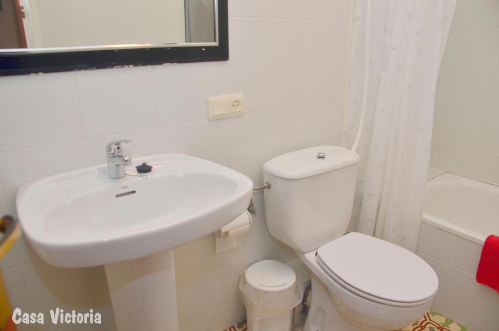
<path id="1" fill-rule="evenodd" d="M 229 2 L 228 62 L 0 78 L 0 214 L 15 214 L 16 189 L 29 180 L 105 162 L 105 143 L 116 138 L 133 140 L 125 151 L 132 156 L 187 153 L 255 184 L 271 157 L 339 144 L 350 1 Z M 207 98 L 234 92 L 246 94 L 247 113 L 207 120 Z M 295 258 L 268 234 L 262 195 L 254 200 L 254 226 L 236 249 L 217 255 L 207 236 L 175 250 L 182 331 L 220 331 L 243 320 L 240 273 L 261 259 Z M 1 267 L 14 307 L 93 308 L 103 324 L 71 330 L 112 330 L 102 267 L 52 268 L 24 239 Z"/>

